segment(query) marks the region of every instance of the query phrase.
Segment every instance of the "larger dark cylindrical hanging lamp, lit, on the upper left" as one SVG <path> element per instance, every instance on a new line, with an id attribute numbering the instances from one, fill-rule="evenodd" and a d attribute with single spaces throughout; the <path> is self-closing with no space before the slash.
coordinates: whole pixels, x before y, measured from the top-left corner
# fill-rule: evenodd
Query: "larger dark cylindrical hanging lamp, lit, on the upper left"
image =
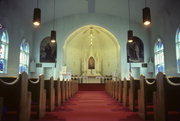
<path id="1" fill-rule="evenodd" d="M 39 0 L 37 0 L 37 8 L 34 8 L 33 25 L 38 27 L 41 24 L 41 9 L 38 8 Z"/>

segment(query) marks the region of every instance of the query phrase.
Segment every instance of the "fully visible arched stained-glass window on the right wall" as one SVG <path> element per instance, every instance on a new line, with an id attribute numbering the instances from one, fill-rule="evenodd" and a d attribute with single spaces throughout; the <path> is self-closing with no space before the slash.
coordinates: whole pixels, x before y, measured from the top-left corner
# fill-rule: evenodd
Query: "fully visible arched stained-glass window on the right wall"
<path id="1" fill-rule="evenodd" d="M 165 72 L 164 45 L 160 39 L 158 39 L 155 44 L 154 56 L 155 56 L 155 74 L 157 74 L 158 72 Z"/>

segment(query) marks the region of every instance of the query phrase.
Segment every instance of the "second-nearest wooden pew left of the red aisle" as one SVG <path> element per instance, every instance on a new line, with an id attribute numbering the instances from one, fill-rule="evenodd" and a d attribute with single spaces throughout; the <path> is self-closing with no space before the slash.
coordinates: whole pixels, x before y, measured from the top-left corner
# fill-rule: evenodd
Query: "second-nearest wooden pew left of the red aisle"
<path id="1" fill-rule="evenodd" d="M 44 89 L 44 75 L 28 80 L 28 90 L 32 93 L 31 112 L 36 112 L 36 118 L 44 117 L 46 112 L 46 90 Z M 34 114 L 34 113 L 33 113 Z"/>

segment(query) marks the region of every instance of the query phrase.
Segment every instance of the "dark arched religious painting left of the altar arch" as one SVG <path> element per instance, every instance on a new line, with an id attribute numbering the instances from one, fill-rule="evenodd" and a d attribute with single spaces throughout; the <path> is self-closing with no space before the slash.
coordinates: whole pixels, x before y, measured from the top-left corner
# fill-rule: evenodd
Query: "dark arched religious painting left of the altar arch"
<path id="1" fill-rule="evenodd" d="M 56 43 L 51 43 L 50 37 L 44 38 L 40 45 L 40 62 L 55 63 L 56 53 Z"/>

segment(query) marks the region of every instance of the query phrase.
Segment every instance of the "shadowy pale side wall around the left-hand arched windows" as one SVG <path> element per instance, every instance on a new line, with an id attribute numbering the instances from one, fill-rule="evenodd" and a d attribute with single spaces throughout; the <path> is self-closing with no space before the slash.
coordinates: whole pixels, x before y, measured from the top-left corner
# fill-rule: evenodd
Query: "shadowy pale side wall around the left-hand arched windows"
<path id="1" fill-rule="evenodd" d="M 7 74 L 0 76 L 17 76 L 19 73 L 20 43 L 25 38 L 30 45 L 30 57 L 32 55 L 32 24 L 14 8 L 10 8 L 6 1 L 1 1 L 0 24 L 4 25 L 9 35 L 9 52 Z"/>

